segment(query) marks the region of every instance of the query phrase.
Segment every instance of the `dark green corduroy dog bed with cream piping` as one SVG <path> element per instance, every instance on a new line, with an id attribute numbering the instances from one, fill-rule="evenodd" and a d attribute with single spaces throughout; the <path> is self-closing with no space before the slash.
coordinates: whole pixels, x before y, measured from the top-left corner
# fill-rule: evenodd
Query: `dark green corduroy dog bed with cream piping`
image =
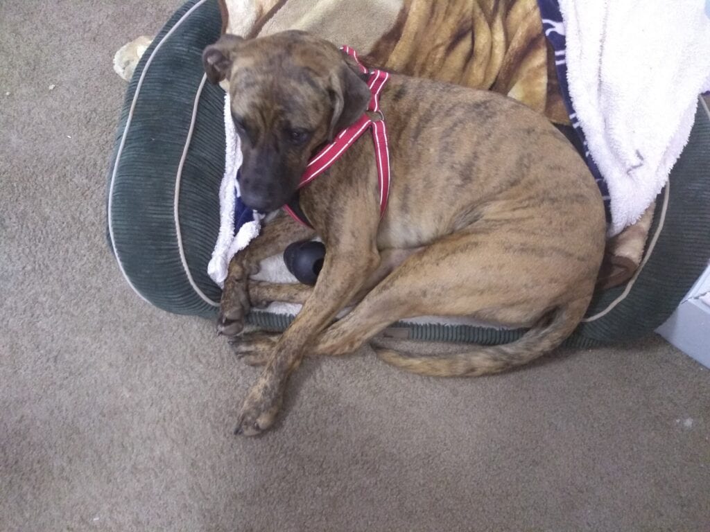
<path id="1" fill-rule="evenodd" d="M 217 0 L 190 0 L 141 58 L 121 111 L 109 167 L 108 239 L 121 273 L 166 311 L 212 317 L 220 289 L 207 264 L 219 233 L 224 173 L 224 92 L 205 81 L 201 53 L 221 33 Z M 699 106 L 691 138 L 657 198 L 640 268 L 599 291 L 567 340 L 591 346 L 630 340 L 660 326 L 710 257 L 710 113 Z M 253 311 L 249 321 L 280 330 L 292 314 Z M 441 320 L 398 323 L 389 333 L 484 344 L 523 331 Z"/>

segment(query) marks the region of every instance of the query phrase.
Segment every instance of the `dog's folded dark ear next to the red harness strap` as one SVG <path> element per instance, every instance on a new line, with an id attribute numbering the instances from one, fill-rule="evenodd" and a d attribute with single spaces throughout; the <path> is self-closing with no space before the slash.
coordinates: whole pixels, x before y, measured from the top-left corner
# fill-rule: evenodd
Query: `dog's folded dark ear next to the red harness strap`
<path id="1" fill-rule="evenodd" d="M 339 72 L 334 75 L 330 89 L 333 117 L 328 131 L 329 142 L 332 142 L 338 131 L 351 126 L 362 116 L 362 113 L 367 110 L 371 97 L 366 82 L 344 62 Z"/>

